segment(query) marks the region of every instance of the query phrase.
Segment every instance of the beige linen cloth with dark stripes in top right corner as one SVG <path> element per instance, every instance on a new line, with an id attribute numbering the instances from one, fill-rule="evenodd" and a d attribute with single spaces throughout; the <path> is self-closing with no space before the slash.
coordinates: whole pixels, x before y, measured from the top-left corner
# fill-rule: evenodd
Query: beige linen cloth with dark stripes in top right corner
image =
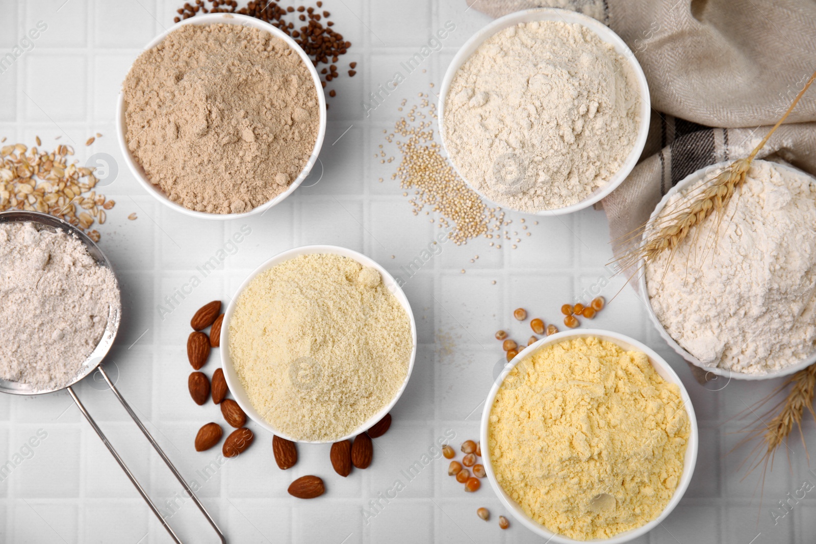
<path id="1" fill-rule="evenodd" d="M 493 17 L 531 7 L 582 12 L 618 33 L 641 64 L 649 139 L 632 173 L 602 201 L 616 256 L 628 246 L 615 241 L 649 219 L 674 184 L 751 153 L 816 70 L 813 0 L 467 2 Z M 816 175 L 816 84 L 757 157 Z"/>

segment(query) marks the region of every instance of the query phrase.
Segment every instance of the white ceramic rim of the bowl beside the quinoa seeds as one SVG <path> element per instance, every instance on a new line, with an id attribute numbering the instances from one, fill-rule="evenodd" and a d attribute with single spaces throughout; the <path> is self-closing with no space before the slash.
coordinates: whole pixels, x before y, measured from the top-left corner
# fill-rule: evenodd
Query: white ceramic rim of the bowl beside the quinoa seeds
<path id="1" fill-rule="evenodd" d="M 462 64 L 464 64 L 464 62 L 470 58 L 470 55 L 477 50 L 478 46 L 481 46 L 482 42 L 493 36 L 495 33 L 498 33 L 500 30 L 511 26 L 516 26 L 519 23 L 530 23 L 532 21 L 542 20 L 555 20 L 570 24 L 581 24 L 596 33 L 598 38 L 601 38 L 602 42 L 612 45 L 614 50 L 618 51 L 620 55 L 623 55 L 623 58 L 632 68 L 632 72 L 635 74 L 637 80 L 637 91 L 641 95 L 641 112 L 639 119 L 640 126 L 637 129 L 637 138 L 635 139 L 635 145 L 632 147 L 632 151 L 629 153 L 626 161 L 623 162 L 623 166 L 620 167 L 620 170 L 618 170 L 609 181 L 601 185 L 601 187 L 596 188 L 592 194 L 584 198 L 582 201 L 576 202 L 570 206 L 564 206 L 563 208 L 541 210 L 534 213 L 534 215 L 571 214 L 574 211 L 583 210 L 584 208 L 592 206 L 597 201 L 600 201 L 603 197 L 610 194 L 610 192 L 613 192 L 615 188 L 623 183 L 623 179 L 626 179 L 626 176 L 628 176 L 629 172 L 632 171 L 632 168 L 635 167 L 638 158 L 641 157 L 641 153 L 643 152 L 643 148 L 646 144 L 646 135 L 649 133 L 651 100 L 649 96 L 649 86 L 646 84 L 646 77 L 643 75 L 641 64 L 637 62 L 632 50 L 629 49 L 618 34 L 612 32 L 612 30 L 610 30 L 610 28 L 605 24 L 602 24 L 598 20 L 592 19 L 592 17 L 588 17 L 587 15 L 583 15 L 575 11 L 562 10 L 556 7 L 542 7 L 524 11 L 516 11 L 515 13 L 504 15 L 503 17 L 494 20 L 485 28 L 473 34 L 472 37 L 468 39 L 468 41 L 465 42 L 459 49 L 453 60 L 450 61 L 450 65 L 445 73 L 445 78 L 442 79 L 441 90 L 439 93 L 439 134 L 441 135 L 442 146 L 445 147 L 446 153 L 448 154 L 448 157 L 450 157 L 450 152 L 446 146 L 445 137 L 445 101 L 448 96 L 448 91 L 450 91 L 450 83 L 453 81 L 455 73 L 459 70 L 459 68 L 461 68 Z M 464 179 L 465 183 L 467 183 L 470 188 L 476 191 L 483 200 L 490 201 L 490 198 L 479 192 L 477 188 L 475 188 L 474 184 L 472 184 L 468 178 L 463 175 L 462 171 L 459 170 L 453 160 L 451 160 L 450 163 L 454 165 L 459 177 Z M 512 209 L 510 206 L 502 205 L 502 207 L 505 210 Z"/>

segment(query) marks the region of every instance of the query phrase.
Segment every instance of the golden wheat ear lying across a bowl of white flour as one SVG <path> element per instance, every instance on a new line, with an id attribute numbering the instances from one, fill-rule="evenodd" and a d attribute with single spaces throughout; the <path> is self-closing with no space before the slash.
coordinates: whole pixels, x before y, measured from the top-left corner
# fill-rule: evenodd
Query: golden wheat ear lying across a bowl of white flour
<path id="1" fill-rule="evenodd" d="M 721 170 L 706 184 L 703 184 L 701 188 L 687 194 L 687 200 L 690 199 L 690 202 L 684 204 L 681 209 L 670 211 L 659 218 L 650 219 L 640 228 L 636 228 L 619 238 L 621 243 L 628 243 L 640 238 L 645 232 L 650 232 L 650 236 L 645 239 L 643 244 L 619 259 L 612 261 L 618 271 L 635 268 L 636 271 L 629 277 L 629 280 L 631 280 L 641 268 L 644 268 L 645 263 L 657 258 L 664 250 L 672 250 L 673 252 L 689 235 L 690 230 L 695 225 L 703 223 L 712 213 L 716 212 L 721 217 L 725 206 L 728 206 L 731 197 L 734 196 L 734 191 L 745 183 L 745 176 L 751 168 L 756 153 L 759 153 L 761 148 L 765 147 L 774 131 L 787 119 L 787 116 L 796 107 L 796 104 L 805 94 L 805 91 L 808 90 L 810 84 L 814 82 L 814 79 L 816 79 L 816 72 L 808 78 L 805 86 L 793 99 L 782 118 L 768 131 L 765 138 L 756 145 L 747 157 L 732 161 L 729 166 L 726 166 L 724 170 Z M 642 265 L 640 264 L 641 260 L 644 262 Z"/>

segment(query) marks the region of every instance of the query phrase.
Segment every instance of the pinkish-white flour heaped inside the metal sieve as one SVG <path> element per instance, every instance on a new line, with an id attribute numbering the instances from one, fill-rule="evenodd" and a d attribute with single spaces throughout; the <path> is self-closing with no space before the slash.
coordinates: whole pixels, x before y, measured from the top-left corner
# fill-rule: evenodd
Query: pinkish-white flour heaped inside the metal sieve
<path id="1" fill-rule="evenodd" d="M 38 390 L 73 382 L 119 307 L 81 241 L 31 223 L 0 224 L 0 299 L 0 378 Z"/>

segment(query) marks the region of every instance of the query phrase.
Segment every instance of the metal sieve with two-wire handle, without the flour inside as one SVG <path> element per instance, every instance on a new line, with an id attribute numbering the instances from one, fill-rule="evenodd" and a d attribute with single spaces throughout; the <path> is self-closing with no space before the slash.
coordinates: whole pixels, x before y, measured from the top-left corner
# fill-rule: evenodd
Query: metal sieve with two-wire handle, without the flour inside
<path id="1" fill-rule="evenodd" d="M 80 231 L 78 228 L 73 227 L 73 225 L 64 222 L 62 219 L 57 219 L 52 215 L 42 214 L 37 211 L 20 211 L 20 210 L 11 210 L 11 211 L 4 211 L 0 212 L 0 223 L 33 223 L 39 230 L 47 229 L 50 231 L 58 231 L 61 230 L 63 232 L 67 232 L 69 235 L 78 238 L 79 241 L 85 245 L 88 253 L 91 254 L 91 257 L 99 264 L 101 267 L 109 268 L 111 272 L 113 272 L 113 267 L 111 267 L 110 262 L 107 257 L 104 256 L 102 250 L 91 240 L 91 238 L 87 237 L 87 235 Z M 115 272 L 114 272 L 115 276 Z M 117 281 L 117 288 L 118 288 L 118 281 Z M 141 484 L 136 480 L 135 475 L 131 472 L 131 470 L 127 467 L 122 458 L 119 456 L 119 453 L 116 449 L 113 448 L 113 444 L 111 444 L 104 433 L 100 429 L 100 427 L 94 421 L 94 418 L 91 418 L 91 414 L 86 410 L 85 406 L 82 405 L 82 401 L 79 400 L 76 391 L 73 391 L 73 386 L 78 383 L 82 378 L 85 378 L 88 374 L 91 374 L 94 370 L 97 370 L 104 378 L 105 383 L 108 384 L 110 390 L 113 391 L 113 394 L 116 395 L 116 398 L 119 402 L 122 403 L 122 406 L 126 409 L 127 413 L 131 415 L 133 421 L 139 426 L 144 436 L 147 437 L 150 444 L 153 446 L 153 449 L 156 450 L 156 453 L 159 454 L 159 457 L 165 462 L 167 468 L 171 470 L 173 475 L 175 475 L 176 480 L 179 480 L 179 483 L 184 487 L 184 490 L 188 493 L 189 498 L 193 499 L 193 502 L 196 503 L 198 510 L 202 512 L 202 514 L 206 517 L 207 521 L 210 522 L 212 529 L 215 530 L 215 533 L 218 534 L 221 542 L 227 542 L 224 538 L 224 533 L 221 533 L 221 530 L 218 528 L 218 525 L 215 524 L 215 520 L 212 519 L 212 516 L 209 512 L 206 511 L 206 508 L 202 504 L 201 501 L 198 500 L 195 493 L 193 493 L 193 489 L 190 489 L 187 482 L 184 481 L 184 478 L 180 474 L 180 472 L 175 468 L 173 463 L 167 458 L 166 453 L 162 450 L 162 448 L 157 444 L 156 440 L 147 430 L 147 427 L 144 427 L 144 423 L 136 416 L 131 406 L 127 404 L 127 401 L 113 385 L 113 382 L 108 377 L 108 374 L 105 372 L 102 366 L 102 360 L 104 356 L 108 354 L 110 347 L 113 345 L 113 339 L 116 338 L 116 334 L 119 329 L 119 322 L 121 321 L 121 315 L 118 308 L 111 308 L 108 314 L 108 325 L 104 329 L 104 334 L 102 334 L 102 338 L 100 338 L 99 343 L 96 344 L 96 347 L 91 355 L 87 357 L 84 363 L 82 363 L 82 370 L 77 374 L 77 377 L 74 378 L 72 383 L 65 387 L 60 387 L 59 389 L 51 389 L 51 390 L 35 390 L 33 387 L 29 386 L 26 383 L 18 383 L 18 382 L 10 382 L 8 380 L 4 380 L 0 378 L 0 392 L 3 393 L 10 393 L 11 395 L 44 395 L 46 393 L 53 393 L 55 391 L 61 391 L 62 389 L 66 389 L 69 392 L 73 401 L 77 404 L 79 411 L 82 412 L 82 415 L 88 420 L 93 427 L 96 434 L 99 435 L 100 440 L 108 448 L 108 451 L 113 455 L 113 458 L 116 459 L 116 462 L 119 463 L 119 467 L 122 467 L 122 471 L 125 472 L 127 477 L 131 480 L 131 483 L 134 485 L 136 490 L 144 499 L 144 502 L 147 502 L 150 510 L 153 511 L 153 514 L 156 515 L 158 520 L 162 523 L 164 528 L 167 530 L 167 533 L 170 533 L 170 536 L 173 537 L 173 540 L 177 542 L 177 544 L 182 544 L 179 537 L 175 534 L 175 531 L 171 528 L 169 524 L 162 518 L 161 512 L 158 511 L 158 508 L 153 503 L 153 500 L 149 498 L 147 492 L 144 491 L 144 488 Z"/>

